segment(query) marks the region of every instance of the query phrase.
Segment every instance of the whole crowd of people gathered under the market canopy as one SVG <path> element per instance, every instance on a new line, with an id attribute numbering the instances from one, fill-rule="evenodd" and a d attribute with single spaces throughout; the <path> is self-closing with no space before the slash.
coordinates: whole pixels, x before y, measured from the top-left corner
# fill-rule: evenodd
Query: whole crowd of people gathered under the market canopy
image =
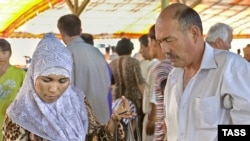
<path id="1" fill-rule="evenodd" d="M 64 44 L 45 34 L 27 72 L 0 39 L 0 141 L 216 141 L 218 125 L 250 124 L 250 50 L 229 51 L 229 25 L 204 39 L 199 14 L 171 4 L 138 38 L 140 58 L 129 38 L 102 54 L 74 14 L 57 27 Z"/>

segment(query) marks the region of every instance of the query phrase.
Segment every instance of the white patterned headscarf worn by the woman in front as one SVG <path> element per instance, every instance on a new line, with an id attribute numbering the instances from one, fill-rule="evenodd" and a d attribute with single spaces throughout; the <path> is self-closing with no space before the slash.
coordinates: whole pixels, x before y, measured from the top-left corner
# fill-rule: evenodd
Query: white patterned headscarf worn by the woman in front
<path id="1" fill-rule="evenodd" d="M 62 74 L 71 76 L 72 57 L 68 49 L 51 33 L 39 42 L 24 84 L 7 109 L 11 120 L 26 130 L 53 141 L 85 141 L 88 114 L 84 94 L 69 86 L 53 103 L 44 103 L 34 85 L 38 76 Z"/>

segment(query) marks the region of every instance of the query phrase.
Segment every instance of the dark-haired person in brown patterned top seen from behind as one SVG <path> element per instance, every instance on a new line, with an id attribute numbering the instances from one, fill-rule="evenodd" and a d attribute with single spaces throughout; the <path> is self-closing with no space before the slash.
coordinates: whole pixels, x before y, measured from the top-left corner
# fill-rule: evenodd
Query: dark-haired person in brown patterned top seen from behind
<path id="1" fill-rule="evenodd" d="M 134 45 L 130 39 L 122 38 L 119 40 L 116 45 L 116 53 L 119 57 L 110 62 L 110 68 L 113 74 L 114 100 L 125 96 L 135 104 L 138 116 L 137 126 L 141 132 L 142 94 L 145 81 L 141 74 L 139 61 L 131 57 L 133 49 Z"/>

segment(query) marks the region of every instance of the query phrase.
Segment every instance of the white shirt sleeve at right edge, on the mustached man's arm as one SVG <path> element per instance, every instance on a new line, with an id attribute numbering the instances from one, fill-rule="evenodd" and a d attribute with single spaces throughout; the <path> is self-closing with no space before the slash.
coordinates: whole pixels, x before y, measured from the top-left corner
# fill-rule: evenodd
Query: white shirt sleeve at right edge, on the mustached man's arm
<path id="1" fill-rule="evenodd" d="M 233 124 L 250 124 L 250 64 L 238 67 L 226 77 L 222 91 L 230 95 L 232 109 L 230 116 Z M 224 105 L 224 108 L 226 106 Z M 227 107 L 229 108 L 229 107 Z"/>

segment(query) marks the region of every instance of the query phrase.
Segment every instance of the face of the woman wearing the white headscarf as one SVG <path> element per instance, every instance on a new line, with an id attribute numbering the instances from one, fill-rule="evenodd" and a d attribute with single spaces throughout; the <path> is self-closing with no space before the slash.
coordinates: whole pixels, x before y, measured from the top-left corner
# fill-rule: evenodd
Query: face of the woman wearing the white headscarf
<path id="1" fill-rule="evenodd" d="M 45 103 L 52 103 L 64 93 L 69 84 L 69 78 L 64 75 L 50 74 L 48 76 L 38 76 L 35 90 Z"/>

